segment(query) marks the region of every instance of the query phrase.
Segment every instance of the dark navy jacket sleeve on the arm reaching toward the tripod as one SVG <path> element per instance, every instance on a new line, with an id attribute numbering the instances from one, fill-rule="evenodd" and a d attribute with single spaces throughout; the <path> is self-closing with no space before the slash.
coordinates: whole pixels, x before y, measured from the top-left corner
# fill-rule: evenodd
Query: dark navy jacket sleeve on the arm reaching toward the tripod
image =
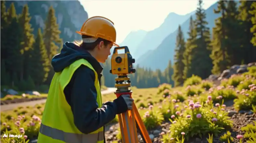
<path id="1" fill-rule="evenodd" d="M 82 65 L 76 70 L 71 90 L 70 105 L 74 123 L 84 134 L 103 127 L 117 114 L 117 105 L 113 102 L 107 102 L 98 108 L 94 80 L 94 72 Z"/>

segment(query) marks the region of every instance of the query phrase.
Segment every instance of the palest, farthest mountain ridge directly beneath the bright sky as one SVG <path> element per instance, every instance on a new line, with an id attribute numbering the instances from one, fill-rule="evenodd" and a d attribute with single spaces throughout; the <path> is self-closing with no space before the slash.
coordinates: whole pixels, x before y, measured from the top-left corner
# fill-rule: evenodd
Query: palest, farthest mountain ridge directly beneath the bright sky
<path id="1" fill-rule="evenodd" d="M 163 24 L 158 28 L 151 30 L 147 35 L 141 40 L 138 46 L 135 48 L 135 54 L 133 57 L 137 60 L 141 55 L 145 54 L 147 51 L 155 49 L 163 39 L 170 33 L 174 32 L 179 24 L 182 24 L 187 20 L 194 12 L 186 15 L 178 15 L 176 13 L 170 13 L 164 20 Z"/>

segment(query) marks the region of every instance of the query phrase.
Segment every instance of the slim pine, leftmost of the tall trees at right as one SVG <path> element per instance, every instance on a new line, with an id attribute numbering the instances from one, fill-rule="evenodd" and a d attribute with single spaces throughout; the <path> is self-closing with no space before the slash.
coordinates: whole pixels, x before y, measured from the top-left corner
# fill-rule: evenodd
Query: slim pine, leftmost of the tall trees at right
<path id="1" fill-rule="evenodd" d="M 172 79 L 174 81 L 174 86 L 179 86 L 184 82 L 183 78 L 183 70 L 185 64 L 183 63 L 183 54 L 185 52 L 185 40 L 183 36 L 183 32 L 179 25 L 178 34 L 176 37 L 176 48 L 175 48 L 175 56 L 174 56 L 174 74 L 172 75 Z"/>

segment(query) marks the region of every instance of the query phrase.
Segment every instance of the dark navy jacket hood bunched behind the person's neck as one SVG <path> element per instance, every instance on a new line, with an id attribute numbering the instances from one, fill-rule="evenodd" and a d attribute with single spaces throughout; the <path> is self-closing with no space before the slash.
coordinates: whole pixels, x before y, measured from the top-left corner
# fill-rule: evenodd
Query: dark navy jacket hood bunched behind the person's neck
<path id="1" fill-rule="evenodd" d="M 61 52 L 52 58 L 51 65 L 55 72 L 60 72 L 79 59 L 85 59 L 91 63 L 97 73 L 101 73 L 103 70 L 100 63 L 87 50 L 81 49 L 71 42 L 63 44 Z"/>

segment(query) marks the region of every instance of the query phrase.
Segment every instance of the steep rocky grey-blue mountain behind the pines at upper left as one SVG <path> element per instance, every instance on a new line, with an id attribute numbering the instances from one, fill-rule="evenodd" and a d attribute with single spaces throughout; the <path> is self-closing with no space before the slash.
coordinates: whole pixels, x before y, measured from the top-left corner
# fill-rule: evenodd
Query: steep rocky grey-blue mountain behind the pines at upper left
<path id="1" fill-rule="evenodd" d="M 6 7 L 14 2 L 16 13 L 21 14 L 23 5 L 27 4 L 29 7 L 29 13 L 32 17 L 30 23 L 34 28 L 33 34 L 37 34 L 37 29 L 40 27 L 42 30 L 45 26 L 45 19 L 48 14 L 48 9 L 53 6 L 55 10 L 55 16 L 57 17 L 57 23 L 61 30 L 60 37 L 65 41 L 74 41 L 75 39 L 81 39 L 80 35 L 76 33 L 80 30 L 83 23 L 88 19 L 88 14 L 84 10 L 84 7 L 78 0 L 65 0 L 65 1 L 6 1 Z"/>

